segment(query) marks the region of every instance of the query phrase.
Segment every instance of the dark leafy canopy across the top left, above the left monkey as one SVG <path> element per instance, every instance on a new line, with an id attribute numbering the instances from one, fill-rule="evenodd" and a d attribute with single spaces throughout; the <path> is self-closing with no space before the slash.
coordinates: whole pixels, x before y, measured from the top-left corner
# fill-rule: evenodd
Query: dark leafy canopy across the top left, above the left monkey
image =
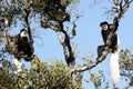
<path id="1" fill-rule="evenodd" d="M 25 17 L 29 11 L 47 17 L 45 21 L 62 21 L 68 16 L 66 7 L 74 0 L 1 0 L 0 17 L 8 18 L 10 23 L 17 18 Z M 33 13 L 32 13 L 33 16 Z M 14 19 L 16 18 L 16 19 Z"/>

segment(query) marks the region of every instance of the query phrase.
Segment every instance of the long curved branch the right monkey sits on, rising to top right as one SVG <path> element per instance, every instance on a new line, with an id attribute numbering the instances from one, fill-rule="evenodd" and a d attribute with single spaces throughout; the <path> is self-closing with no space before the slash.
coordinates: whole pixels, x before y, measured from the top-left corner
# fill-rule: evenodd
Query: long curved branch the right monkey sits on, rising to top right
<path id="1" fill-rule="evenodd" d="M 132 0 L 133 1 L 133 0 Z M 108 46 L 110 46 L 110 40 L 111 40 L 111 37 L 115 33 L 115 31 L 117 30 L 117 27 L 115 27 L 115 20 L 117 20 L 117 22 L 121 20 L 122 16 L 125 13 L 125 11 L 129 9 L 129 6 L 130 6 L 130 1 L 129 0 L 124 0 L 125 4 L 124 7 L 122 6 L 122 2 L 123 0 L 113 0 L 114 4 L 116 6 L 116 9 L 117 9 L 117 16 L 114 18 L 114 21 L 113 21 L 113 30 L 112 32 L 110 32 L 109 37 L 108 37 Z M 115 28 L 114 28 L 115 27 Z M 109 47 L 105 47 L 105 51 L 104 53 L 102 53 L 102 56 L 100 58 L 98 58 L 96 61 L 93 61 L 91 63 L 85 63 L 83 66 L 79 66 L 79 67 L 74 67 L 73 69 L 71 69 L 71 72 L 82 72 L 82 71 L 85 71 L 85 70 L 89 70 L 89 69 L 92 69 L 94 67 L 96 67 L 96 65 L 99 65 L 100 62 L 102 62 L 105 57 L 108 56 L 109 53 Z"/>

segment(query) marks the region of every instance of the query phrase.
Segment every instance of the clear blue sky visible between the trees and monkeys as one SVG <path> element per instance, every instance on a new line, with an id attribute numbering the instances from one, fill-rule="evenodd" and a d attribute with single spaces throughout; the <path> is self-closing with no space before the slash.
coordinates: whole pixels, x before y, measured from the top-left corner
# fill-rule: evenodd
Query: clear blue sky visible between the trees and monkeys
<path id="1" fill-rule="evenodd" d="M 108 18 L 108 16 L 104 14 L 105 11 L 111 9 L 113 6 L 111 0 L 98 0 L 96 4 L 90 2 L 91 0 L 80 0 L 80 3 L 75 6 L 76 7 L 75 13 L 82 16 L 80 17 L 80 19 L 76 20 L 76 37 L 72 39 L 72 41 L 78 44 L 76 63 L 80 63 L 80 61 L 82 61 L 81 57 L 84 55 L 92 55 L 93 60 L 95 60 L 96 48 L 98 46 L 103 43 L 101 37 L 100 22 L 108 21 L 112 23 L 112 19 Z M 74 12 L 72 14 L 73 14 L 72 17 L 74 17 Z M 131 41 L 131 39 L 133 38 L 132 19 L 133 19 L 133 3 L 131 4 L 127 12 L 125 12 L 124 17 L 120 21 L 120 27 L 117 30 L 117 34 L 121 40 L 120 49 L 127 48 L 133 50 L 133 43 L 132 43 L 133 41 Z M 34 47 L 35 47 L 35 52 L 40 58 L 40 60 L 51 61 L 51 59 L 58 59 L 64 62 L 63 49 L 58 40 L 55 32 L 51 29 L 43 29 L 39 27 L 38 20 L 34 20 L 34 22 L 37 23 L 37 24 L 32 24 L 32 29 L 35 29 Z M 98 72 L 99 70 L 104 70 L 105 77 L 108 78 L 109 81 L 111 81 L 110 72 L 109 72 L 109 60 L 108 60 L 109 57 L 110 55 L 102 63 L 98 65 L 93 69 L 93 72 Z M 92 83 L 85 82 L 85 80 L 88 79 L 89 79 L 89 71 L 85 71 L 83 75 L 84 89 L 94 89 Z M 123 78 L 120 79 L 120 83 L 119 83 L 120 88 L 125 86 L 123 85 L 124 83 L 123 80 L 124 80 Z"/>

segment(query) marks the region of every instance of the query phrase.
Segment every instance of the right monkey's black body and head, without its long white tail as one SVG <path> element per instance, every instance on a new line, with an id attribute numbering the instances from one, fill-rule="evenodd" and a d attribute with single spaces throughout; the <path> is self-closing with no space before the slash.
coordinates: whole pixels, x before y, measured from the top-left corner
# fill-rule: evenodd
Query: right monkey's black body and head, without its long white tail
<path id="1" fill-rule="evenodd" d="M 108 37 L 109 37 L 110 32 L 114 32 L 114 34 L 112 36 L 112 38 L 110 40 L 111 43 L 109 46 L 109 50 L 112 53 L 117 51 L 117 34 L 115 33 L 115 31 L 117 30 L 117 27 L 119 27 L 117 19 L 115 18 L 112 24 L 109 24 L 106 21 L 101 22 L 100 27 L 102 27 L 101 33 L 102 33 L 104 44 L 98 47 L 98 58 L 102 56 L 102 52 L 105 50 L 105 47 L 109 46 L 106 43 L 106 41 L 108 41 Z"/>

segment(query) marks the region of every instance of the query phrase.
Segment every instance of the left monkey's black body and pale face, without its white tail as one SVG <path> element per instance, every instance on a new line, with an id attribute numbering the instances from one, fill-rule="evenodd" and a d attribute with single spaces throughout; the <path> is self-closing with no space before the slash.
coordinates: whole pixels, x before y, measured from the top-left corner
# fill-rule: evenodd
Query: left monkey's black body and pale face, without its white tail
<path id="1" fill-rule="evenodd" d="M 25 29 L 22 29 L 20 33 L 18 34 L 18 41 L 17 41 L 17 58 L 20 59 L 21 56 L 25 56 L 27 58 L 32 57 L 33 49 L 31 48 L 30 41 L 27 37 L 28 31 Z M 28 59 L 30 60 L 30 59 Z"/>

